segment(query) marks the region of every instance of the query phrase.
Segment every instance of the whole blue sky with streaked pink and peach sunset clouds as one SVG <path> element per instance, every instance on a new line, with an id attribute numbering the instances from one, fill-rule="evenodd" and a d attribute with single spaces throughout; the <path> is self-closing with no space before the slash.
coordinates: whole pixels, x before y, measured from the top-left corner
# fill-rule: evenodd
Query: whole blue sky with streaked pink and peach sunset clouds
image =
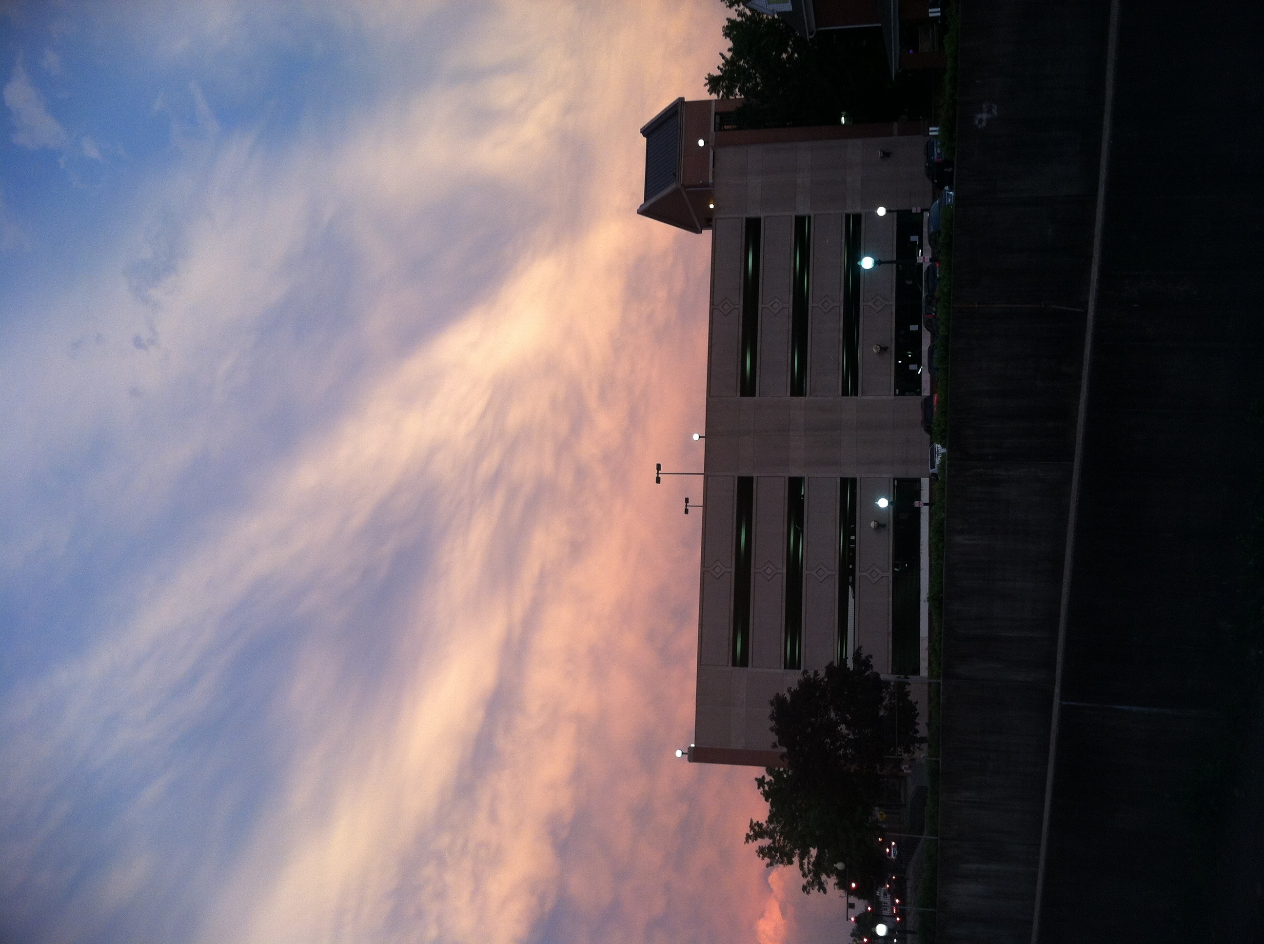
<path id="1" fill-rule="evenodd" d="M 722 23 L 0 6 L 0 941 L 843 936 L 674 756 Z"/>

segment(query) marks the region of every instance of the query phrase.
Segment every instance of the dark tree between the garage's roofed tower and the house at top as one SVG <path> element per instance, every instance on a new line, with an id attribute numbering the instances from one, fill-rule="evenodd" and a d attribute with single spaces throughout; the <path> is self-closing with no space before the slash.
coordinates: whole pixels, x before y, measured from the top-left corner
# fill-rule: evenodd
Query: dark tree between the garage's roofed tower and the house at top
<path id="1" fill-rule="evenodd" d="M 836 125 L 930 116 L 930 73 L 891 68 L 877 28 L 825 29 L 804 39 L 782 19 L 756 13 L 742 0 L 724 23 L 728 53 L 707 76 L 707 92 L 742 99 L 739 128 Z"/>

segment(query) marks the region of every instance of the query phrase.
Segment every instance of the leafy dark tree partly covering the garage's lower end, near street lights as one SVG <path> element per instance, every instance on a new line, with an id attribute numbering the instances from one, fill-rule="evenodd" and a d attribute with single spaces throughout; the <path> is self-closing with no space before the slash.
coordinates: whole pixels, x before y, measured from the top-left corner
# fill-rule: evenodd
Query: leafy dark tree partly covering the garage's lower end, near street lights
<path id="1" fill-rule="evenodd" d="M 854 893 L 872 900 L 886 872 L 876 809 L 884 778 L 897 777 L 925 741 L 909 686 L 884 681 L 857 650 L 851 666 L 804 672 L 771 705 L 772 747 L 786 766 L 756 778 L 769 816 L 751 820 L 746 842 L 762 843 L 756 853 L 770 868 L 798 863 L 805 893 L 856 882 Z"/>

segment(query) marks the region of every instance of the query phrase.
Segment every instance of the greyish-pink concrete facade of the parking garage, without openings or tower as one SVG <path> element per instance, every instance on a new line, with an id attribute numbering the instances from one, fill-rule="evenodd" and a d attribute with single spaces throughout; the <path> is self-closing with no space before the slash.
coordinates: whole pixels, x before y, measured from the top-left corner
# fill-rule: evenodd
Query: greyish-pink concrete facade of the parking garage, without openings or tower
<path id="1" fill-rule="evenodd" d="M 890 671 L 894 478 L 923 478 L 929 441 L 920 398 L 892 396 L 895 267 L 860 283 L 860 394 L 841 396 L 846 214 L 862 214 L 862 251 L 894 258 L 895 214 L 927 207 L 925 139 L 916 136 L 751 144 L 715 149 L 708 353 L 705 498 L 694 742 L 767 749 L 769 701 L 794 685 L 782 669 L 786 497 L 806 479 L 803 666 L 839 650 L 839 483 L 858 480 L 856 643 Z M 889 157 L 880 157 L 887 152 Z M 811 217 L 808 396 L 790 394 L 794 217 Z M 762 217 L 757 396 L 738 396 L 744 219 Z M 750 667 L 733 667 L 734 514 L 738 476 L 755 479 Z M 846 615 L 843 615 L 846 618 Z"/>

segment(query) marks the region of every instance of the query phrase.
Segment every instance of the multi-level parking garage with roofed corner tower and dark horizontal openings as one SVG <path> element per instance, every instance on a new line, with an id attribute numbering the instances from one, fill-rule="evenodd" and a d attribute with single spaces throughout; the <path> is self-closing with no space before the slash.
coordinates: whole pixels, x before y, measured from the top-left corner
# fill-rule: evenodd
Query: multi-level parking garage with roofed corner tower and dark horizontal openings
<path id="1" fill-rule="evenodd" d="M 733 106 L 641 129 L 637 212 L 712 240 L 689 757 L 769 766 L 769 700 L 801 669 L 860 646 L 925 671 L 932 190 L 924 124 L 717 130 Z"/>

